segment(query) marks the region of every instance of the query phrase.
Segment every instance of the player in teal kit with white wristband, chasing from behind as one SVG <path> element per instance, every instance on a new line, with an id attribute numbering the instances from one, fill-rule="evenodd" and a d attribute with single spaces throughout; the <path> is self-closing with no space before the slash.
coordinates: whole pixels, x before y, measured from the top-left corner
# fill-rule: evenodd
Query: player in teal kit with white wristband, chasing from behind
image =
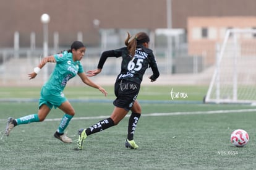
<path id="1" fill-rule="evenodd" d="M 28 74 L 30 79 L 34 79 L 47 62 L 56 63 L 49 80 L 41 88 L 38 113 L 30 114 L 18 119 L 9 117 L 5 131 L 7 136 L 9 136 L 11 130 L 17 125 L 44 121 L 54 106 L 54 108 L 59 108 L 65 113 L 54 137 L 64 143 L 72 142 L 71 138 L 64 134 L 64 130 L 75 115 L 74 108 L 64 96 L 64 93 L 62 93 L 67 82 L 75 77 L 75 75 L 79 75 L 83 83 L 90 87 L 98 88 L 98 90 L 100 90 L 105 96 L 107 95 L 105 89 L 88 79 L 87 75 L 85 75 L 85 72 L 83 71 L 80 60 L 83 58 L 85 50 L 86 48 L 82 42 L 74 41 L 68 51 L 43 58 L 40 64 L 34 68 L 34 71 L 31 74 Z"/>

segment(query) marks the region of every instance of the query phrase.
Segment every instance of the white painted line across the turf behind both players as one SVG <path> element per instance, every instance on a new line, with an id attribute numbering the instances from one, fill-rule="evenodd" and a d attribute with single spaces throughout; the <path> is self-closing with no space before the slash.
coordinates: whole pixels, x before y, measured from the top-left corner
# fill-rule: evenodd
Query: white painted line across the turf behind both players
<path id="1" fill-rule="evenodd" d="M 173 112 L 173 113 L 149 113 L 142 114 L 143 117 L 149 116 L 176 116 L 176 115 L 188 115 L 188 114 L 224 114 L 224 113 L 250 113 L 256 112 L 256 109 L 234 109 L 234 110 L 216 110 L 216 111 L 190 111 L 190 112 Z M 88 120 L 88 119 L 105 119 L 108 116 L 88 116 L 88 117 L 73 117 L 72 120 Z M 129 117 L 127 115 L 126 117 Z M 45 119 L 45 121 L 61 121 L 62 118 Z M 0 119 L 0 121 L 6 121 L 7 119 Z"/>

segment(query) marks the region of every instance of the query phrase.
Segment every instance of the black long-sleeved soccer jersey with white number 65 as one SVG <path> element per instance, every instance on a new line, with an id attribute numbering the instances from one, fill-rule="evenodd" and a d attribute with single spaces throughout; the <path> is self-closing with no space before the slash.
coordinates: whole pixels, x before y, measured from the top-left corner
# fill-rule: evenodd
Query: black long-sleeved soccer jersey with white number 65
<path id="1" fill-rule="evenodd" d="M 145 48 L 143 45 L 137 46 L 134 57 L 129 56 L 127 47 L 105 52 L 106 53 L 101 55 L 101 59 L 98 64 L 99 69 L 102 69 L 104 62 L 106 61 L 106 57 L 122 56 L 121 72 L 119 75 L 117 75 L 117 80 L 125 79 L 140 84 L 148 67 L 151 67 L 153 71 L 151 79 L 155 80 L 159 76 L 153 51 Z"/>

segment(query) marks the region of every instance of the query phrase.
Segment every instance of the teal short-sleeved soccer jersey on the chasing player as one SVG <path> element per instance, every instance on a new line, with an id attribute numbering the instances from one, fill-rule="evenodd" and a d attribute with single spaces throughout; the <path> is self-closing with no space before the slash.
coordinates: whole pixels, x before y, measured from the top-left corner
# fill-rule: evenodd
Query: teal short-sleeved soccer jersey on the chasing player
<path id="1" fill-rule="evenodd" d="M 70 79 L 83 72 L 80 61 L 73 61 L 72 56 L 72 53 L 67 51 L 54 55 L 56 66 L 44 85 L 48 90 L 63 91 Z"/>

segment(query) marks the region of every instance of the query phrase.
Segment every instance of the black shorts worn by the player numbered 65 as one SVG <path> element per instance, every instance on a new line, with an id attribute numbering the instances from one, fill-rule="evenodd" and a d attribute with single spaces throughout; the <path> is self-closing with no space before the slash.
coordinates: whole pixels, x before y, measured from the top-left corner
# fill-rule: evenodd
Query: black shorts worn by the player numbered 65
<path id="1" fill-rule="evenodd" d="M 113 101 L 114 106 L 129 111 L 134 105 L 139 91 L 140 84 L 127 80 L 119 80 L 114 84 L 114 94 L 116 95 L 116 100 Z"/>

